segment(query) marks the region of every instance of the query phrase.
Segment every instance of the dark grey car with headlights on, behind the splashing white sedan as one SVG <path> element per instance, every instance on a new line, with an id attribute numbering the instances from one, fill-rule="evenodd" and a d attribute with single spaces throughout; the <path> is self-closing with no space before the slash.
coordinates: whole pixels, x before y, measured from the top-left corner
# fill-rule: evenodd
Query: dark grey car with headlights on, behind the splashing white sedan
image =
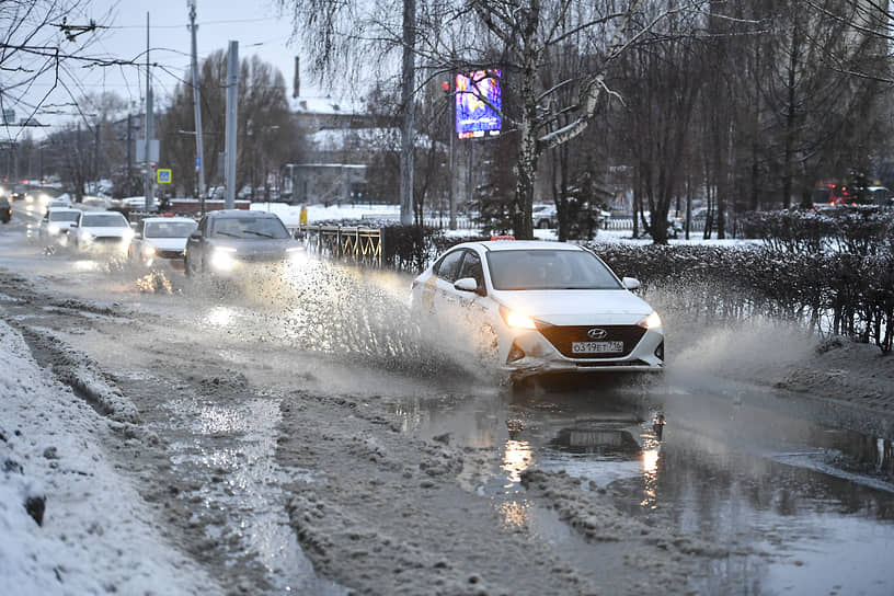
<path id="1" fill-rule="evenodd" d="M 185 273 L 231 276 L 305 255 L 305 248 L 267 211 L 210 211 L 186 241 Z"/>

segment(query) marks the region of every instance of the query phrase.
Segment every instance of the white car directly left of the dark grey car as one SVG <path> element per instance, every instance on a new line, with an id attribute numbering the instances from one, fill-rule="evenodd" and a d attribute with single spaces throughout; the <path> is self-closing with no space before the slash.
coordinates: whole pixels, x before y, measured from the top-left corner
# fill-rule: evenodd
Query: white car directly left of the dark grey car
<path id="1" fill-rule="evenodd" d="M 197 226 L 188 217 L 147 217 L 137 226 L 127 254 L 131 262 L 147 267 L 161 262 L 182 270 L 186 239 Z"/>

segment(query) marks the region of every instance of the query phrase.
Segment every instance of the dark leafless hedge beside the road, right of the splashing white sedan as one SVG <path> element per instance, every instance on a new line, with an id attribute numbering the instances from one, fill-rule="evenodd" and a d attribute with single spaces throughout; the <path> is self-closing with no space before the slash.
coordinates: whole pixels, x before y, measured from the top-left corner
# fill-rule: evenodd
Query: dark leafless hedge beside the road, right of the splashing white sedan
<path id="1" fill-rule="evenodd" d="M 885 353 L 894 343 L 891 251 L 863 256 L 698 245 L 591 248 L 645 289 L 688 288 L 678 294 L 684 303 L 675 307 L 706 319 L 770 314 L 823 334 L 875 343 Z"/>

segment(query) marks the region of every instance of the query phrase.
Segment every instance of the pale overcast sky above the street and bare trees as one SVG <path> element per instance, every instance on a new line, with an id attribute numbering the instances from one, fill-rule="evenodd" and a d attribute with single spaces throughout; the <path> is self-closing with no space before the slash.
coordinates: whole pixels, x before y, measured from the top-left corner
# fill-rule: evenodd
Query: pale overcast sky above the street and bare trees
<path id="1" fill-rule="evenodd" d="M 239 42 L 240 59 L 257 55 L 273 64 L 283 73 L 286 92 L 291 98 L 295 56 L 299 48 L 289 42 L 291 25 L 283 18 L 272 0 L 196 0 L 196 23 L 198 23 L 199 62 L 217 49 L 227 49 L 229 41 Z M 61 124 L 78 117 L 78 108 L 66 106 L 72 95 L 79 98 L 88 92 L 114 91 L 138 111 L 145 98 L 146 70 L 146 15 L 149 13 L 150 61 L 158 62 L 152 68 L 152 85 L 156 105 L 163 106 L 179 80 L 190 68 L 190 31 L 186 0 L 93 0 L 85 3 L 83 13 L 71 15 L 70 24 L 87 24 L 95 19 L 107 24 L 88 47 L 90 56 L 102 56 L 124 60 L 138 60 L 139 67 L 114 66 L 106 68 L 79 68 L 69 64 L 66 88 L 57 89 L 45 107 L 36 116 L 44 124 Z M 77 23 L 79 16 L 83 23 Z M 301 73 L 301 95 L 325 94 L 310 85 L 307 72 Z M 39 95 L 53 84 L 44 79 L 31 90 L 31 101 L 36 103 Z M 16 118 L 26 116 L 26 108 L 19 106 Z M 38 133 L 39 129 L 35 129 Z M 36 134 L 35 136 L 41 136 Z"/>

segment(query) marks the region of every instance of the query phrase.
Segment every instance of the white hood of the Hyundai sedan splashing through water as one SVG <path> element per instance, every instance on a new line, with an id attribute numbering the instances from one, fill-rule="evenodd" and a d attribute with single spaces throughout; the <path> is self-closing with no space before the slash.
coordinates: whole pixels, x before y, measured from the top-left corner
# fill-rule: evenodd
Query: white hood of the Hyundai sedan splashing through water
<path id="1" fill-rule="evenodd" d="M 635 324 L 652 312 L 624 289 L 495 290 L 494 299 L 552 325 Z"/>

